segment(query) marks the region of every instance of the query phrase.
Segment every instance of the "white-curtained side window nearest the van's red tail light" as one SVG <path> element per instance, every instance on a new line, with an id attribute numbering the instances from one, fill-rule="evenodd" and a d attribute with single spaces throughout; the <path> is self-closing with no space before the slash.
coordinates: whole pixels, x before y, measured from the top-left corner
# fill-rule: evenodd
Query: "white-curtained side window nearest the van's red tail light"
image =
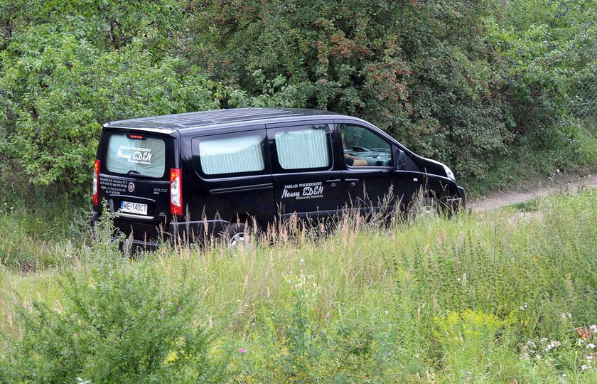
<path id="1" fill-rule="evenodd" d="M 263 171 L 262 137 L 258 134 L 199 143 L 201 170 L 206 175 Z"/>

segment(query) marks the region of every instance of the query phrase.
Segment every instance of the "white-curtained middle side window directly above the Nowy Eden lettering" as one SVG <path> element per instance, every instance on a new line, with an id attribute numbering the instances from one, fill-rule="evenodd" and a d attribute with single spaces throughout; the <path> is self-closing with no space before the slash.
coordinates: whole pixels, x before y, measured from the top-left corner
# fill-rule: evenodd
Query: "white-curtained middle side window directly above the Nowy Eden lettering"
<path id="1" fill-rule="evenodd" d="M 283 169 L 330 165 L 326 126 L 276 133 L 278 161 Z"/>

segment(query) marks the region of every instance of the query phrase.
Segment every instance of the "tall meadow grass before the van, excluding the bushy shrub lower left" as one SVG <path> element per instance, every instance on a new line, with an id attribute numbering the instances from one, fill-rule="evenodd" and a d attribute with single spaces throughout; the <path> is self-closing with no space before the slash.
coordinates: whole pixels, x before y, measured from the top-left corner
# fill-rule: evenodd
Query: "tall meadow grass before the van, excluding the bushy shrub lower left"
<path id="1" fill-rule="evenodd" d="M 64 283 L 85 286 L 108 266 L 125 280 L 149 271 L 173 302 L 190 278 L 194 322 L 217 334 L 210 351 L 233 383 L 593 383 L 596 338 L 579 345 L 573 330 L 597 323 L 597 191 L 522 209 L 533 213 L 389 230 L 353 218 L 314 240 L 290 225 L 267 247 L 165 247 L 141 260 L 106 243 L 56 248 L 57 267 L 1 272 L 0 349 L 14 367 L 27 329 L 16 309 L 41 302 L 58 316 L 72 305 Z"/>

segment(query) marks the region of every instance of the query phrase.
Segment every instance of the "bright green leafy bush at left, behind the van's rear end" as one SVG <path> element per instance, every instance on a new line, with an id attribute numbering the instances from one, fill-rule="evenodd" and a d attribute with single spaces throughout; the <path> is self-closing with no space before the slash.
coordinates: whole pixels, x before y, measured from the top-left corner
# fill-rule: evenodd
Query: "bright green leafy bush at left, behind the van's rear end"
<path id="1" fill-rule="evenodd" d="M 104 53 L 70 33 L 29 28 L 0 55 L 0 152 L 7 174 L 36 185 L 89 183 L 101 124 L 114 119 L 206 110 L 217 86 L 182 60 L 140 44 Z"/>

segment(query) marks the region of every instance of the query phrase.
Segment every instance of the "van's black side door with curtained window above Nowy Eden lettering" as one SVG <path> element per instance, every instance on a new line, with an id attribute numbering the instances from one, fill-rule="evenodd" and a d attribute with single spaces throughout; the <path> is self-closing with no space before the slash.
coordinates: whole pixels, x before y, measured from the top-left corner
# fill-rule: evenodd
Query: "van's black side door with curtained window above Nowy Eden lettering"
<path id="1" fill-rule="evenodd" d="M 267 136 L 279 215 L 313 220 L 338 215 L 345 201 L 333 158 L 332 125 L 268 126 Z"/>

